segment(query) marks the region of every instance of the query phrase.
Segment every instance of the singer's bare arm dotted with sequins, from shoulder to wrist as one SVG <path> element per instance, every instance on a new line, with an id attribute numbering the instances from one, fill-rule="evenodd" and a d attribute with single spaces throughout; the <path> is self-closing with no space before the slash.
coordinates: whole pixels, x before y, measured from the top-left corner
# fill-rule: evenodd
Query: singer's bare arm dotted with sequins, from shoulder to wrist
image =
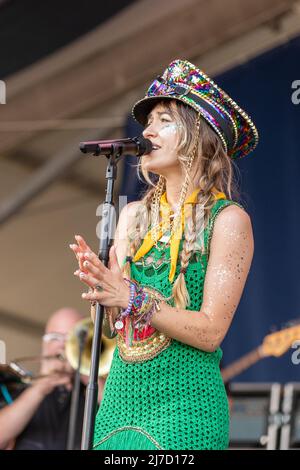
<path id="1" fill-rule="evenodd" d="M 248 214 L 237 206 L 223 209 L 214 224 L 200 312 L 161 303 L 161 311 L 152 317 L 152 326 L 198 349 L 217 349 L 242 296 L 253 251 Z"/>

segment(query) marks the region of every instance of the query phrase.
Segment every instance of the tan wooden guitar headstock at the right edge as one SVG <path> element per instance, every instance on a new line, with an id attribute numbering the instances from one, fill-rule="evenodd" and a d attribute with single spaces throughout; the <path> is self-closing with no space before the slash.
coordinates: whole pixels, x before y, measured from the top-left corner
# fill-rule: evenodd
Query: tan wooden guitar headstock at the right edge
<path id="1" fill-rule="evenodd" d="M 292 344 L 300 341 L 300 325 L 285 328 L 267 335 L 260 347 L 263 356 L 282 356 Z"/>

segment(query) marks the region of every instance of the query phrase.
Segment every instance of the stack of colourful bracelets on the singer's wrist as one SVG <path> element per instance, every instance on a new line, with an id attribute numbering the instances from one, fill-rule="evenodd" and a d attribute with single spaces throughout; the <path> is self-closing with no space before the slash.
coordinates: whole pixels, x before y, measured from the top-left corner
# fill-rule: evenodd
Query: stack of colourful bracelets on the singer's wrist
<path id="1" fill-rule="evenodd" d="M 129 283 L 130 298 L 126 310 L 121 310 L 116 318 L 114 332 L 122 330 L 125 326 L 125 341 L 127 347 L 132 346 L 134 329 L 140 333 L 150 325 L 151 318 L 156 310 L 160 310 L 158 299 L 147 292 L 138 282 L 124 278 Z"/>

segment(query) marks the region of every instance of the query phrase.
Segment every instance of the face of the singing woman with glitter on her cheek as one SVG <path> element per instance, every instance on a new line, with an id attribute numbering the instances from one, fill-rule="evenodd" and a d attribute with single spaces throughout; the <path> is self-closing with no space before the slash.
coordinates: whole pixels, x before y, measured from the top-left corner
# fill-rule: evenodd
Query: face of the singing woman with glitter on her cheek
<path id="1" fill-rule="evenodd" d="M 143 168 L 165 177 L 171 173 L 181 173 L 177 143 L 180 126 L 165 106 L 156 105 L 149 113 L 143 136 L 154 146 L 142 157 Z"/>

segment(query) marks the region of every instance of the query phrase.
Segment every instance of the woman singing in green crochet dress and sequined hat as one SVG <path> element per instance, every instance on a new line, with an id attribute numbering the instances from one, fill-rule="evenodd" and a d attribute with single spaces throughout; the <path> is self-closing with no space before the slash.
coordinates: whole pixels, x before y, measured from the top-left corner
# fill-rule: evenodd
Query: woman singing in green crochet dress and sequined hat
<path id="1" fill-rule="evenodd" d="M 94 448 L 226 449 L 220 345 L 253 257 L 251 220 L 233 200 L 233 160 L 258 133 L 202 70 L 175 60 L 133 108 L 153 149 L 149 184 L 123 208 L 110 261 L 76 236 L 75 272 L 105 306 L 117 347 L 96 417 Z"/>

